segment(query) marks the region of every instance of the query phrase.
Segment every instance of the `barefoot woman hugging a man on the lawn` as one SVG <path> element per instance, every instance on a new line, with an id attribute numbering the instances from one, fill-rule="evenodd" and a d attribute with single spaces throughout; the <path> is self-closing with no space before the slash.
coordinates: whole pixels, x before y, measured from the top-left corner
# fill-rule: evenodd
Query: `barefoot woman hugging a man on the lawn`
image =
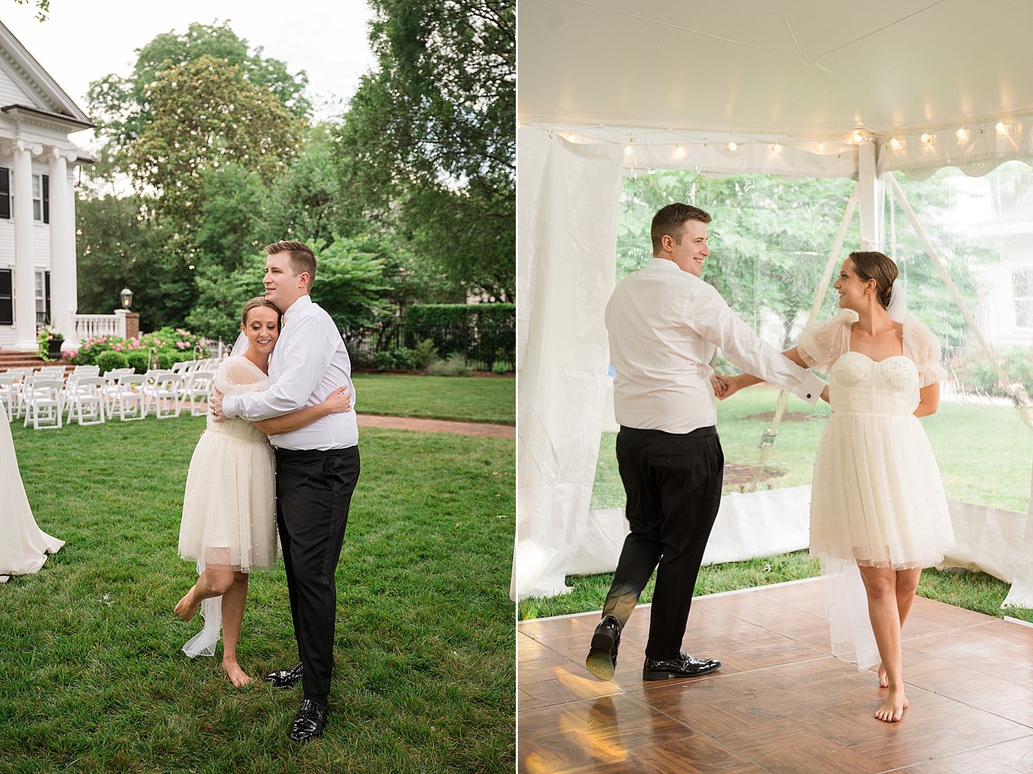
<path id="1" fill-rule="evenodd" d="M 247 349 L 243 355 L 226 358 L 215 377 L 224 395 L 270 388 L 269 358 L 280 335 L 280 310 L 256 297 L 244 305 L 241 330 Z M 261 422 L 217 423 L 209 413 L 194 448 L 183 496 L 179 551 L 197 563 L 199 577 L 176 613 L 189 621 L 204 602 L 205 628 L 183 651 L 190 657 L 214 655 L 221 624 L 222 669 L 238 687 L 251 682 L 237 662 L 248 574 L 276 564 L 276 465 L 268 436 L 348 411 L 351 397 L 346 390 L 335 391 L 318 405 Z"/>

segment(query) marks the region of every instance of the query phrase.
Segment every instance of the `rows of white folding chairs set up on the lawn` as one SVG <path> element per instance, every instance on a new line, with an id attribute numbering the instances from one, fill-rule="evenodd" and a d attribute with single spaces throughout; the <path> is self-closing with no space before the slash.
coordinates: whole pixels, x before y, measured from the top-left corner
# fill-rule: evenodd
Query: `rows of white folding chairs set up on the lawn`
<path id="1" fill-rule="evenodd" d="M 179 416 L 189 401 L 191 416 L 204 414 L 220 360 L 207 359 L 154 369 L 145 374 L 122 368 L 99 375 L 97 366 L 76 366 L 64 378 L 63 366 L 7 369 L 0 374 L 0 404 L 8 420 L 25 417 L 35 430 L 63 424 L 99 425 L 116 415 L 122 422 Z"/>

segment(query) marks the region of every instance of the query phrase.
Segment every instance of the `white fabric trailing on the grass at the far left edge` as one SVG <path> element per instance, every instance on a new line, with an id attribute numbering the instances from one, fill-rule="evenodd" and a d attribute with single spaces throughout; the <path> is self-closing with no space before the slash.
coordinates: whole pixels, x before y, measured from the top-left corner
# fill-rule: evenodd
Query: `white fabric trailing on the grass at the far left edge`
<path id="1" fill-rule="evenodd" d="M 596 446 L 598 446 L 596 442 Z M 48 554 L 55 554 L 64 540 L 52 537 L 36 525 L 18 469 L 14 439 L 7 412 L 0 405 L 0 576 L 38 572 Z"/>

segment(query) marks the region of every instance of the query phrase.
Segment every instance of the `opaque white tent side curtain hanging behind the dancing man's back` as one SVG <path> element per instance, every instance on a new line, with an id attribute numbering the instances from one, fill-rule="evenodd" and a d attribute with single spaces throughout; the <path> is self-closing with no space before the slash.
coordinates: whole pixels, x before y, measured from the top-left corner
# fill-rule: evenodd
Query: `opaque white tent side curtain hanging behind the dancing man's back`
<path id="1" fill-rule="evenodd" d="M 518 481 L 510 596 L 568 592 L 609 379 L 603 312 L 614 285 L 623 151 L 540 129 L 516 133 Z"/>

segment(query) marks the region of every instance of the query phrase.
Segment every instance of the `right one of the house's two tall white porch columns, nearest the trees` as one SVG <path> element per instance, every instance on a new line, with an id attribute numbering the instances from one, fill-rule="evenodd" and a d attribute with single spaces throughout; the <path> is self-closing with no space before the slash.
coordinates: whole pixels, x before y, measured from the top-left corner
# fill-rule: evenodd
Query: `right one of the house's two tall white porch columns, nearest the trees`
<path id="1" fill-rule="evenodd" d="M 75 327 L 75 224 L 68 208 L 68 152 L 52 148 L 51 167 L 51 323 L 73 345 Z M 70 231 L 70 233 L 69 233 Z"/>

